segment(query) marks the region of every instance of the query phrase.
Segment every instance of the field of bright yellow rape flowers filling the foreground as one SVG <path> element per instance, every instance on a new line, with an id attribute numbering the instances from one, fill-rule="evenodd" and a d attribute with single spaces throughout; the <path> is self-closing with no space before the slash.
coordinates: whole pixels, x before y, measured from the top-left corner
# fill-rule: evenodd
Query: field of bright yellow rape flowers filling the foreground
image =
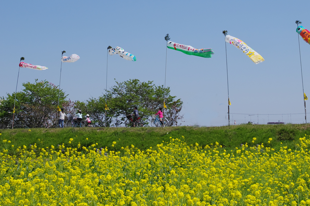
<path id="1" fill-rule="evenodd" d="M 183 136 L 146 151 L 68 141 L 70 148 L 24 146 L 13 156 L 4 149 L 0 205 L 310 205 L 307 135 L 295 150 L 278 151 L 187 145 Z"/>

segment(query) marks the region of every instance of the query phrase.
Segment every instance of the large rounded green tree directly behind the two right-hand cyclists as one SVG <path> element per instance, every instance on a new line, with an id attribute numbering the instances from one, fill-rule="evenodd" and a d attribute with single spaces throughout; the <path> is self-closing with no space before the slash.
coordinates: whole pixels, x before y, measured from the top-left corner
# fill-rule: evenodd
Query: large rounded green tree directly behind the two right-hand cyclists
<path id="1" fill-rule="evenodd" d="M 121 117 L 124 121 L 126 115 L 129 115 L 135 106 L 138 106 L 140 117 L 148 124 L 147 121 L 151 114 L 157 113 L 158 108 L 162 106 L 164 87 L 163 85 L 156 86 L 153 81 L 140 82 L 139 79 L 130 79 L 124 82 L 116 81 L 116 85 L 110 88 L 108 95 L 108 105 L 112 110 L 109 115 L 113 115 L 112 118 Z M 178 121 L 183 118 L 180 115 L 182 104 L 180 99 L 175 100 L 175 96 L 170 96 L 170 88 L 167 87 L 167 119 L 172 122 L 168 126 L 177 125 Z"/>

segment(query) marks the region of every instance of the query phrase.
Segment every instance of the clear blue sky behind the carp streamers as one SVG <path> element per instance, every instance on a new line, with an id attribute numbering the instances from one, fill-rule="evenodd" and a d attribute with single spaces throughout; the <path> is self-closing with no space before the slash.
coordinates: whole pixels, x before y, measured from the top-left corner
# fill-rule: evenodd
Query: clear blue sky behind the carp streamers
<path id="1" fill-rule="evenodd" d="M 228 124 L 223 30 L 258 52 L 254 64 L 227 44 L 230 118 L 237 124 L 304 121 L 298 34 L 295 20 L 310 29 L 301 12 L 308 1 L 2 1 L 0 3 L 0 96 L 15 92 L 20 57 L 48 67 L 20 69 L 17 91 L 35 79 L 59 84 L 61 51 L 78 54 L 63 63 L 61 88 L 71 100 L 102 95 L 107 47 L 122 47 L 136 62 L 108 57 L 108 87 L 139 79 L 163 85 L 166 41 L 212 48 L 212 58 L 168 49 L 166 85 L 184 102 L 183 125 Z M 300 38 L 304 92 L 310 96 L 310 45 Z M 310 108 L 310 102 L 306 101 Z M 310 110 L 308 110 L 310 111 Z M 300 115 L 298 115 L 300 113 Z M 263 115 L 285 114 L 285 115 Z M 288 115 L 292 114 L 292 115 Z M 294 114 L 294 115 L 293 115 Z M 268 119 L 270 118 L 270 119 Z M 282 118 L 282 119 L 281 119 Z M 308 118 L 310 122 L 310 115 Z M 308 122 L 308 121 L 307 121 Z M 231 122 L 233 123 L 233 122 Z"/>

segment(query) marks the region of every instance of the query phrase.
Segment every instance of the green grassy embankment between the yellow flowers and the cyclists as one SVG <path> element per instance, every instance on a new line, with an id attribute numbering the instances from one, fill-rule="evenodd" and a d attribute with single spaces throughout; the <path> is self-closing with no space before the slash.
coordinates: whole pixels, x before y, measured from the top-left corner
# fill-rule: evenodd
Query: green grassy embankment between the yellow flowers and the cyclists
<path id="1" fill-rule="evenodd" d="M 233 125 L 223 127 L 166 127 L 166 128 L 64 128 L 64 129 L 5 129 L 0 130 L 0 150 L 7 148 L 13 151 L 14 148 L 30 144 L 37 144 L 38 148 L 46 148 L 58 144 L 65 147 L 90 146 L 98 143 L 96 148 L 108 147 L 108 150 L 121 150 L 121 147 L 135 145 L 136 148 L 146 150 L 149 147 L 156 148 L 162 141 L 169 141 L 169 138 L 179 138 L 188 145 L 198 143 L 201 146 L 215 144 L 223 145 L 226 149 L 240 147 L 240 144 L 248 143 L 249 146 L 263 143 L 265 147 L 280 148 L 288 146 L 294 149 L 299 138 L 310 134 L 310 125 L 288 124 L 288 125 Z M 182 138 L 182 135 L 184 138 Z M 252 139 L 256 138 L 252 144 Z M 72 144 L 69 139 L 72 138 Z M 88 140 L 86 139 L 88 138 Z M 268 139 L 272 138 L 271 144 Z M 3 142 L 3 140 L 7 142 Z M 8 143 L 8 141 L 11 143 Z M 112 142 L 117 144 L 112 148 Z M 283 143 L 283 145 L 281 144 Z"/>

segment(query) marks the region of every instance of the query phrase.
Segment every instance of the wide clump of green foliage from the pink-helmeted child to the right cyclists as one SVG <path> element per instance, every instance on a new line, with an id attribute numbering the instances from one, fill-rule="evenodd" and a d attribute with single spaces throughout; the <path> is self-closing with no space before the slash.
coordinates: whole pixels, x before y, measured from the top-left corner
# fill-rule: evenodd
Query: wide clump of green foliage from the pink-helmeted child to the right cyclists
<path id="1" fill-rule="evenodd" d="M 75 108 L 81 109 L 83 115 L 89 114 L 91 121 L 96 126 L 105 126 L 105 112 L 107 115 L 107 127 L 112 123 L 126 120 L 126 115 L 133 112 L 137 106 L 140 117 L 148 125 L 148 119 L 152 114 L 156 114 L 158 108 L 164 102 L 164 87 L 156 86 L 152 81 L 140 82 L 138 79 L 130 79 L 124 82 L 116 82 L 116 85 L 107 91 L 107 96 L 90 98 L 86 102 L 75 103 Z M 109 110 L 105 110 L 105 100 Z M 183 102 L 181 99 L 175 100 L 175 96 L 170 96 L 170 88 L 166 88 L 166 113 L 165 118 L 169 120 L 169 125 L 180 125 L 183 115 L 180 115 Z M 85 114 L 84 114 L 85 112 Z"/>

